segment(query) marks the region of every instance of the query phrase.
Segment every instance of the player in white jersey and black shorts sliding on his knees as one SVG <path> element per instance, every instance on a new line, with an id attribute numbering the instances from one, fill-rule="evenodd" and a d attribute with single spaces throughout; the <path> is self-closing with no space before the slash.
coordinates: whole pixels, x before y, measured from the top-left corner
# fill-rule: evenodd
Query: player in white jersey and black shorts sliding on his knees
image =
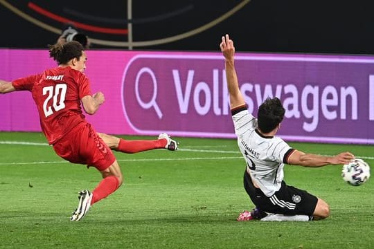
<path id="1" fill-rule="evenodd" d="M 321 167 L 350 163 L 355 156 L 342 152 L 336 156 L 305 154 L 276 137 L 285 109 L 278 98 L 267 98 L 258 108 L 257 118 L 247 110 L 238 85 L 234 66 L 235 47 L 229 35 L 220 44 L 225 59 L 226 80 L 230 107 L 238 136 L 238 146 L 247 167 L 244 189 L 256 205 L 252 212 L 243 212 L 238 221 L 310 221 L 330 215 L 328 204 L 305 190 L 289 186 L 283 181 L 283 167 L 301 165 Z"/>

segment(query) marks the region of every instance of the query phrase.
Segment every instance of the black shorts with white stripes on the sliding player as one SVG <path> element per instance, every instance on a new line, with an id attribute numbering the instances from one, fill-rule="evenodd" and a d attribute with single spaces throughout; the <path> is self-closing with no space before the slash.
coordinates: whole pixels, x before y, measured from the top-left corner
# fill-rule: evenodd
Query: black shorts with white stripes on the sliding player
<path id="1" fill-rule="evenodd" d="M 316 196 L 287 186 L 284 181 L 280 190 L 267 197 L 259 188 L 253 186 L 247 170 L 244 172 L 244 189 L 258 209 L 274 214 L 312 216 L 318 201 Z"/>

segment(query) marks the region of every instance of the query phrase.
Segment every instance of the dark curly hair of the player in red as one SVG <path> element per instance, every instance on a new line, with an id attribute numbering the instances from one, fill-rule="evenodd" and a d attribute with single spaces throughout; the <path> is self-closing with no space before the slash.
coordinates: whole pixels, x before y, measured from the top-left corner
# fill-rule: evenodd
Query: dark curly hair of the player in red
<path id="1" fill-rule="evenodd" d="M 66 44 L 49 45 L 49 57 L 57 62 L 57 64 L 67 64 L 71 59 L 79 59 L 84 50 L 82 44 L 79 42 L 71 41 Z"/>

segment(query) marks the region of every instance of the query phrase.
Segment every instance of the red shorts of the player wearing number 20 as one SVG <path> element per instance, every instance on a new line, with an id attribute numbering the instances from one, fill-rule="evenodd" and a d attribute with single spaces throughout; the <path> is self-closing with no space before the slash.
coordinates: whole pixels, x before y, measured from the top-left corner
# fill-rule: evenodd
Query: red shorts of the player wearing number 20
<path id="1" fill-rule="evenodd" d="M 89 123 L 75 127 L 53 145 L 58 156 L 71 163 L 94 166 L 102 171 L 114 163 L 111 149 Z"/>

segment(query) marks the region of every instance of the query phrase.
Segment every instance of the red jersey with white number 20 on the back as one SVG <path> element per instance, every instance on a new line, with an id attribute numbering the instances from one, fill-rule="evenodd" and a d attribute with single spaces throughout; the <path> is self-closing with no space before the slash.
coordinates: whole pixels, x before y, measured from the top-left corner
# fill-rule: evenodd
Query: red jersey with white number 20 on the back
<path id="1" fill-rule="evenodd" d="M 89 79 L 70 66 L 47 69 L 12 82 L 17 91 L 31 91 L 42 131 L 50 145 L 86 123 L 80 100 L 91 95 Z"/>

